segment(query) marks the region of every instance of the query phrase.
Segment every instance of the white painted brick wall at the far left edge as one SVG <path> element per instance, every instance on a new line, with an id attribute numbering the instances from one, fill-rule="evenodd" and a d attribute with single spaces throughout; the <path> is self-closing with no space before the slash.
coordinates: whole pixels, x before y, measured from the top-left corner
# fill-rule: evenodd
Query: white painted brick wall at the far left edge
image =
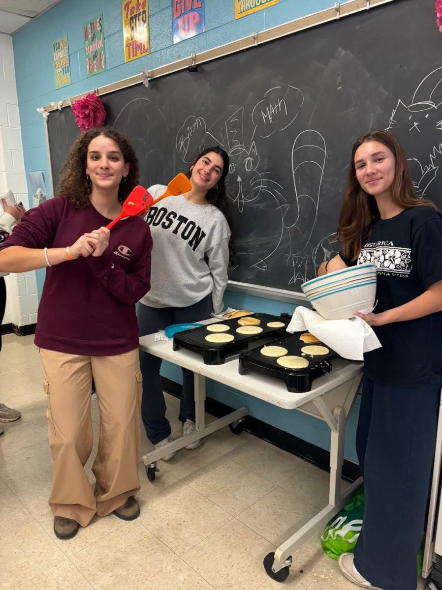
<path id="1" fill-rule="evenodd" d="M 15 86 L 12 37 L 0 33 L 0 194 L 9 188 L 28 208 L 23 146 Z M 6 280 L 4 324 L 27 326 L 37 322 L 35 272 L 11 274 Z"/>

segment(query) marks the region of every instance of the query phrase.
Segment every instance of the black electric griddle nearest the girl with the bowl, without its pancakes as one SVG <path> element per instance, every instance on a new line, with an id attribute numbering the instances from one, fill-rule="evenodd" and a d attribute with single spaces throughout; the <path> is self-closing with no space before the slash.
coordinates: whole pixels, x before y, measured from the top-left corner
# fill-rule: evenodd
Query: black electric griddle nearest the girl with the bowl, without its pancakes
<path id="1" fill-rule="evenodd" d="M 285 369 L 281 365 L 278 365 L 277 359 L 270 356 L 264 356 L 261 354 L 262 346 L 257 346 L 252 350 L 247 350 L 239 355 L 239 367 L 238 371 L 241 375 L 244 375 L 246 371 L 254 371 L 261 375 L 273 377 L 275 379 L 281 379 L 287 385 L 287 390 L 290 392 L 297 391 L 310 391 L 311 383 L 313 379 L 330 373 L 332 371 L 332 363 L 330 359 L 336 356 L 336 352 L 330 349 L 330 346 L 323 344 L 322 342 L 310 345 L 300 340 L 300 336 L 303 332 L 295 332 L 291 336 L 287 336 L 280 340 L 274 340 L 269 342 L 268 346 L 282 346 L 288 350 L 288 355 L 301 356 L 303 359 L 307 359 L 310 365 L 305 369 Z M 308 355 L 301 351 L 304 346 L 326 346 L 330 352 L 326 355 Z"/>

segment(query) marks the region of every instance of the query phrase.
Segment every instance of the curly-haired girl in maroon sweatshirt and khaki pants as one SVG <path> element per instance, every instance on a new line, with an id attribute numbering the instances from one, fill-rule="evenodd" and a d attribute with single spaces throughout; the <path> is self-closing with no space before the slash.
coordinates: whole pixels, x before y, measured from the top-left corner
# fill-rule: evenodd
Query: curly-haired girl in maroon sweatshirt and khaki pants
<path id="1" fill-rule="evenodd" d="M 46 269 L 35 344 L 48 399 L 49 504 L 60 539 L 95 514 L 139 514 L 135 304 L 150 289 L 152 240 L 138 217 L 106 228 L 137 183 L 137 157 L 125 137 L 109 127 L 89 130 L 74 142 L 58 196 L 24 214 L 0 245 L 0 271 Z M 92 451 L 92 378 L 100 409 L 95 490 L 83 469 Z"/>

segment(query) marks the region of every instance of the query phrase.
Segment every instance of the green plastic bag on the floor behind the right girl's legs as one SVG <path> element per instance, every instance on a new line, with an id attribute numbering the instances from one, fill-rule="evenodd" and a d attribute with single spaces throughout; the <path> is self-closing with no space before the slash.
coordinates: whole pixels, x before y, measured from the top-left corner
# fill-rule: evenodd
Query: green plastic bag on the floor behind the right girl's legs
<path id="1" fill-rule="evenodd" d="M 364 508 L 364 490 L 362 488 L 352 496 L 341 512 L 330 520 L 321 536 L 322 548 L 329 557 L 339 559 L 342 553 L 353 553 L 362 528 Z M 422 575 L 424 540 L 425 537 L 422 539 L 421 548 L 417 554 L 418 576 Z"/>

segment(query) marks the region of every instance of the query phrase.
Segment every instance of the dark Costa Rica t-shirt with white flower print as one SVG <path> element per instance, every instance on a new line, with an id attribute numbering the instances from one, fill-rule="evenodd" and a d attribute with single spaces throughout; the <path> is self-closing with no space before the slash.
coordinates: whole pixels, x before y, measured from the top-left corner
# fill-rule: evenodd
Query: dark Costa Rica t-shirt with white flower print
<path id="1" fill-rule="evenodd" d="M 442 215 L 418 206 L 378 219 L 358 260 L 340 257 L 347 266 L 376 266 L 374 313 L 398 307 L 442 280 Z M 382 348 L 364 355 L 370 379 L 402 387 L 442 383 L 442 312 L 372 328 Z"/>

